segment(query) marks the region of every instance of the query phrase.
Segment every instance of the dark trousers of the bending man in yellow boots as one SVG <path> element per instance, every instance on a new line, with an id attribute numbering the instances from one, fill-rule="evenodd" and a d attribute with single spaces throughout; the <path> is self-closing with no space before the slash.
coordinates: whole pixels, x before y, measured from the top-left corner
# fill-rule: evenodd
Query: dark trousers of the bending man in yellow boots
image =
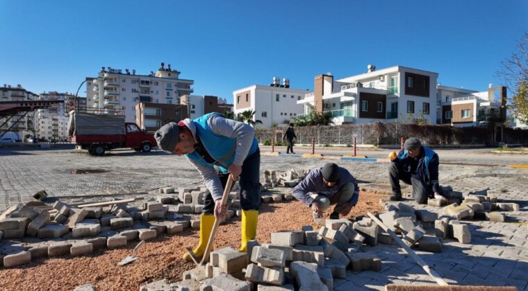
<path id="1" fill-rule="evenodd" d="M 240 207 L 242 207 L 242 210 L 258 210 L 261 206 L 260 167 L 261 152 L 257 148 L 253 154 L 245 159 L 244 164 L 242 164 L 242 173 L 240 173 L 239 180 Z M 229 173 L 220 173 L 218 177 L 222 183 L 222 188 L 225 188 Z M 201 212 L 204 214 L 213 214 L 214 211 L 215 200 L 213 200 L 211 192 L 206 191 L 204 209 Z"/>

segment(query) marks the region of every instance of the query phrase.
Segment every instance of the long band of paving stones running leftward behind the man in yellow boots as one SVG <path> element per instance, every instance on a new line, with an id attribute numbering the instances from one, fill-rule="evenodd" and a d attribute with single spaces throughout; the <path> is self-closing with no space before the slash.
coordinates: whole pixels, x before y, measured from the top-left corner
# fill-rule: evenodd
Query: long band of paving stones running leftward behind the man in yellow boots
<path id="1" fill-rule="evenodd" d="M 57 200 L 53 206 L 34 206 L 30 202 L 10 207 L 0 215 L 0 266 L 24 265 L 48 256 L 81 256 L 133 240 L 150 240 L 161 233 L 173 235 L 188 227 L 199 229 L 206 188 L 180 188 L 176 193 L 174 188 L 165 187 L 159 191 L 156 199 L 133 205 L 81 208 Z M 279 194 L 263 195 L 263 202 L 283 198 L 291 199 Z M 240 215 L 238 183 L 229 194 L 228 206 L 226 219 Z"/>

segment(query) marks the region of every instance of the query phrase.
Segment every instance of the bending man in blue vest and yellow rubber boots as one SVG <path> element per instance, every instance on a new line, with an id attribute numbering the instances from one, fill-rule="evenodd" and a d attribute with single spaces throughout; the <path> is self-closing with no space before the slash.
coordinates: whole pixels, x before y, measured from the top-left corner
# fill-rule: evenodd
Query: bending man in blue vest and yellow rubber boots
<path id="1" fill-rule="evenodd" d="M 240 252 L 247 252 L 247 241 L 254 240 L 261 204 L 259 170 L 261 152 L 254 137 L 253 127 L 211 113 L 179 123 L 163 125 L 156 134 L 158 146 L 165 152 L 185 155 L 195 165 L 208 191 L 200 217 L 200 240 L 192 252 L 197 258 L 204 256 L 211 230 L 215 224 L 214 215 L 225 215 L 222 194 L 229 175 L 240 177 L 240 205 L 242 207 L 242 240 Z M 217 174 L 215 168 L 220 168 Z M 231 190 L 231 189 L 230 189 Z M 189 254 L 183 258 L 192 261 Z"/>

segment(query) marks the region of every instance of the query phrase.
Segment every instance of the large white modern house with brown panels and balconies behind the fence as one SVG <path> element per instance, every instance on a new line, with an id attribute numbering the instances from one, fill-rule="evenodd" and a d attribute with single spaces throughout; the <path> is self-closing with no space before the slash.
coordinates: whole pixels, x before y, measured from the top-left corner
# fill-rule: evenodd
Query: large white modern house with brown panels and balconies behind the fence
<path id="1" fill-rule="evenodd" d="M 314 90 L 297 100 L 302 113 L 313 108 L 331 112 L 333 124 L 395 122 L 421 119 L 436 123 L 438 73 L 402 66 L 368 71 L 334 80 L 330 74 L 315 76 Z"/>

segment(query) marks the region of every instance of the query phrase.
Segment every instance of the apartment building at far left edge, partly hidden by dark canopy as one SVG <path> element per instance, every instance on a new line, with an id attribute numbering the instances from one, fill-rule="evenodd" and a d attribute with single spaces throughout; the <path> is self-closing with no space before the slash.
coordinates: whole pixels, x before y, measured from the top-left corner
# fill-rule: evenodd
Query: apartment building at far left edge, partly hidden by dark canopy
<path id="1" fill-rule="evenodd" d="M 11 85 L 4 84 L 0 87 L 0 101 L 26 101 L 26 100 L 38 100 L 38 94 L 28 91 L 17 85 L 13 87 Z M 5 116 L 0 118 L 0 132 L 13 132 L 17 135 L 18 140 L 22 140 L 26 134 L 33 134 L 33 114 L 31 112 L 21 112 L 15 114 L 13 117 Z"/>

